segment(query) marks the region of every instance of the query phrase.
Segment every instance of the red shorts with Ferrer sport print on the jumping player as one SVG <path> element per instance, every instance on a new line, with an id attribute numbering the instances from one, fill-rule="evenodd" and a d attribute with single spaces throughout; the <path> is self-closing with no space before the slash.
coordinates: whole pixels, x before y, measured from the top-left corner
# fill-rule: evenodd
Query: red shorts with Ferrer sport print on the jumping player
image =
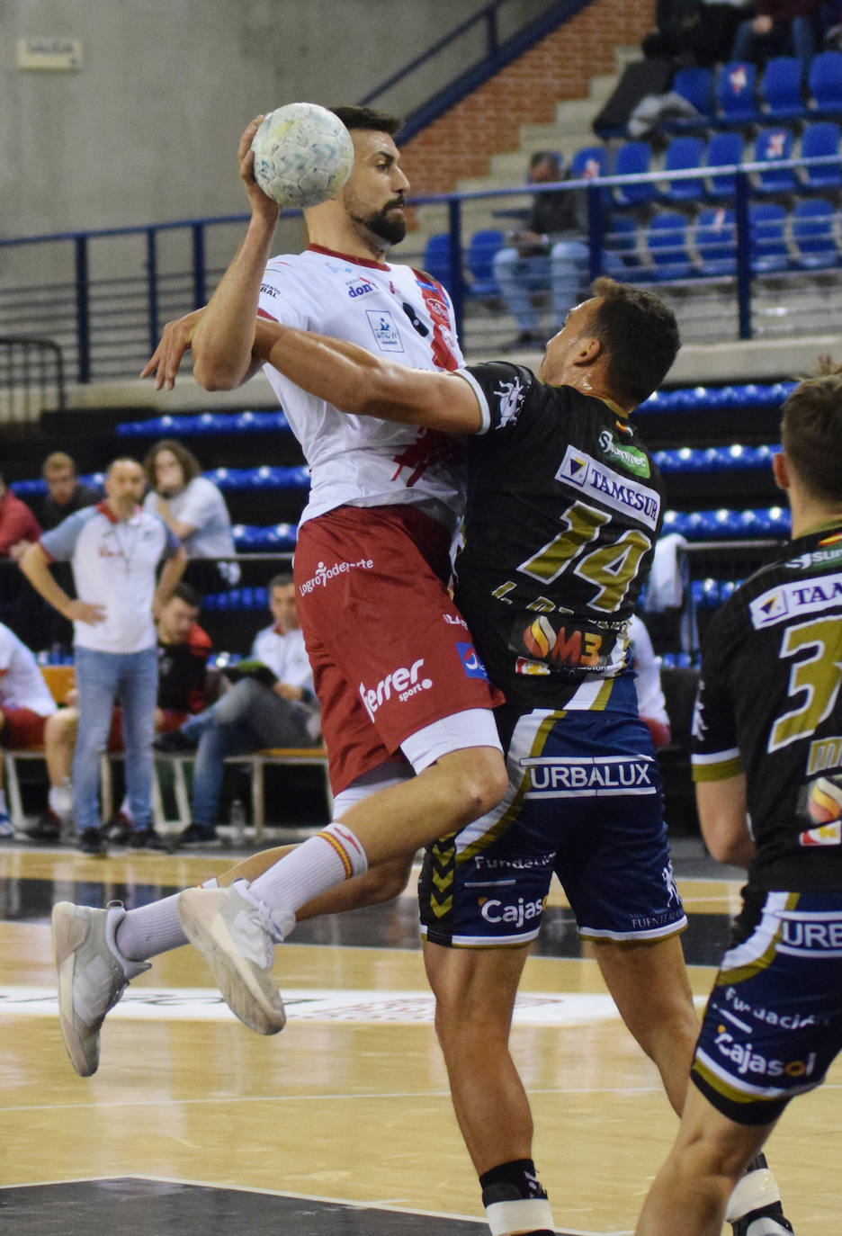
<path id="1" fill-rule="evenodd" d="M 338 507 L 299 529 L 293 569 L 334 794 L 425 726 L 503 702 L 446 588 L 450 538 L 429 515 Z"/>

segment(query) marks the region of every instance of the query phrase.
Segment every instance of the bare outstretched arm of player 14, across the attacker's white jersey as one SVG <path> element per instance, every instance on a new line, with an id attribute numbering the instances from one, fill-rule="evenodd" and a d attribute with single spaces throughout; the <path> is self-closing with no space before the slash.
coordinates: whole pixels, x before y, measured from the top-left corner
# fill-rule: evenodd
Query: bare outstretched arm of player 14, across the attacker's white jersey
<path id="1" fill-rule="evenodd" d="M 253 355 L 340 412 L 450 434 L 481 426 L 474 389 L 453 373 L 412 370 L 346 340 L 265 319 L 257 321 Z"/>

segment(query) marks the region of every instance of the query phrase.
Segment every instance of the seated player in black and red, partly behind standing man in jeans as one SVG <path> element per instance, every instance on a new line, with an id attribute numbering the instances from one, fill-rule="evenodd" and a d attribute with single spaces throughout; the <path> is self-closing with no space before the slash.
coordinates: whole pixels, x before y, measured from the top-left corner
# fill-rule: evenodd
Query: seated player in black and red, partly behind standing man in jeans
<path id="1" fill-rule="evenodd" d="M 210 637 L 198 623 L 202 598 L 189 583 L 177 583 L 169 599 L 161 607 L 156 622 L 158 637 L 158 696 L 155 709 L 156 733 L 167 733 L 181 726 L 190 713 L 205 708 L 215 695 L 216 675 L 208 670 L 211 653 Z M 49 800 L 46 813 L 27 833 L 32 840 L 58 840 L 63 826 L 72 819 L 73 796 L 70 769 L 79 723 L 78 708 L 59 708 L 48 718 L 43 737 Z M 109 751 L 122 750 L 122 723 L 114 708 L 108 738 Z M 127 843 L 131 836 L 131 811 L 125 798 L 108 839 Z"/>

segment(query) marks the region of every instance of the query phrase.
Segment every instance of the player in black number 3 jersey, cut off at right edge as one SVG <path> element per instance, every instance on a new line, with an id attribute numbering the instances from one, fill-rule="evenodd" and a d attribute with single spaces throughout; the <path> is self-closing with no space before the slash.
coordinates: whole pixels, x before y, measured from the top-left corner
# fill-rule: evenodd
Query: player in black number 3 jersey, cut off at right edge
<path id="1" fill-rule="evenodd" d="M 748 864 L 748 884 L 642 1236 L 718 1234 L 728 1183 L 842 1049 L 838 372 L 795 389 L 781 440 L 794 539 L 713 617 L 694 723 L 702 832 L 717 858 Z"/>

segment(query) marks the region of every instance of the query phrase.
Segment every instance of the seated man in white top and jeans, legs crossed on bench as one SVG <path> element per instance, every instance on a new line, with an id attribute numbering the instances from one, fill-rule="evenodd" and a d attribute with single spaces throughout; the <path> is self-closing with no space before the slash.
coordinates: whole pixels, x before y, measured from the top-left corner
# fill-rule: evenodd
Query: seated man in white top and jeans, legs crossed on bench
<path id="1" fill-rule="evenodd" d="M 314 747 L 319 739 L 319 706 L 296 613 L 292 575 L 276 575 L 270 581 L 270 609 L 274 620 L 255 637 L 252 660 L 239 662 L 226 674 L 231 687 L 213 707 L 155 743 L 158 751 L 197 751 L 193 822 L 178 844 L 215 838 L 226 755 L 245 755 L 263 747 Z"/>

